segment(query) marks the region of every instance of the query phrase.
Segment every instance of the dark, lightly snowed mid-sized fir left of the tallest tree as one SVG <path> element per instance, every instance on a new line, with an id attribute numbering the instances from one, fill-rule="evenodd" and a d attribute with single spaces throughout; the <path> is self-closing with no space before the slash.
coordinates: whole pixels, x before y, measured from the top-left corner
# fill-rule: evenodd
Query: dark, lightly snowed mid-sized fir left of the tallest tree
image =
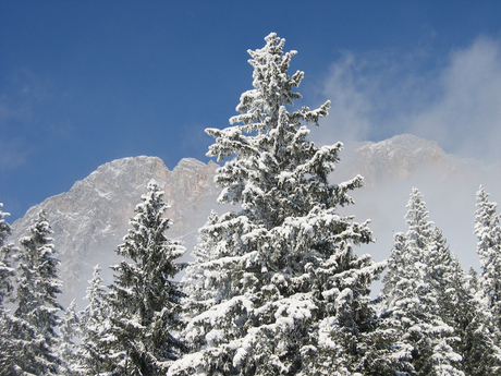
<path id="1" fill-rule="evenodd" d="M 111 356 L 103 364 L 105 373 L 113 375 L 164 375 L 184 344 L 174 336 L 179 330 L 179 283 L 170 280 L 183 267 L 176 264 L 185 248 L 166 238 L 170 220 L 163 192 L 155 181 L 148 183 L 132 229 L 117 253 L 126 259 L 112 269 L 110 286 L 111 328 L 108 350 Z"/>

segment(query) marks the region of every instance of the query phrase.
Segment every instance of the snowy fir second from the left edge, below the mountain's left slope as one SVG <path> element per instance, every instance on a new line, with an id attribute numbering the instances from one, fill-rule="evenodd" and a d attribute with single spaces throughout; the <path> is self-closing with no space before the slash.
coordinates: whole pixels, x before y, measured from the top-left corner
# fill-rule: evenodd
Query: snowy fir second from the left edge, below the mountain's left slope
<path id="1" fill-rule="evenodd" d="M 61 281 L 59 259 L 50 238 L 52 230 L 41 210 L 29 227 L 29 236 L 20 240 L 17 288 L 14 302 L 12 336 L 16 340 L 13 354 L 22 374 L 57 375 L 62 363 L 54 347 L 59 343 L 56 329 L 60 325 L 58 303 Z"/>

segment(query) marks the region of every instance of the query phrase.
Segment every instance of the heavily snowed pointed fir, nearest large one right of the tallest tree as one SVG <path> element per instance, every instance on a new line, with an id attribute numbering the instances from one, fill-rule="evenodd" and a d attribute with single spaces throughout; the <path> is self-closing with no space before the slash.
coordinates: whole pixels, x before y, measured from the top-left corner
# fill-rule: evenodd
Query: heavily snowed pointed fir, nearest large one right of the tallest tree
<path id="1" fill-rule="evenodd" d="M 441 317 L 440 305 L 445 293 L 453 294 L 450 282 L 459 264 L 435 223 L 428 221 L 417 189 L 407 208 L 408 230 L 395 234 L 383 279 L 388 312 L 378 331 L 390 332 L 390 342 L 382 347 L 379 374 L 464 375 L 462 356 L 454 350 L 459 338 Z"/>

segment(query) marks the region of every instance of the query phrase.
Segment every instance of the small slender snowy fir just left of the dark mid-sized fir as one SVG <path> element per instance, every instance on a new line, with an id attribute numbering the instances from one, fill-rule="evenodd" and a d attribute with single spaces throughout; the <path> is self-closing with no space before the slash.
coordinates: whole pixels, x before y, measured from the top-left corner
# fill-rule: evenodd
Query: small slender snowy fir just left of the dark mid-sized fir
<path id="1" fill-rule="evenodd" d="M 101 267 L 96 265 L 89 280 L 85 300 L 87 306 L 81 312 L 81 344 L 78 349 L 78 371 L 84 375 L 99 375 L 102 364 L 110 356 L 108 335 L 110 308 L 108 292 L 102 284 Z"/>

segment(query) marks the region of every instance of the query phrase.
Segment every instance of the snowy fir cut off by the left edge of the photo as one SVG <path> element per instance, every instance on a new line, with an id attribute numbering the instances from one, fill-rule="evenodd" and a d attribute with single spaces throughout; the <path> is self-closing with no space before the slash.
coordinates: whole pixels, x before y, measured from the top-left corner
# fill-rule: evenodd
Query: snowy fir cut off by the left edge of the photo
<path id="1" fill-rule="evenodd" d="M 12 267 L 12 254 L 14 245 L 7 243 L 12 230 L 5 217 L 9 213 L 2 210 L 3 204 L 0 203 L 0 375 L 8 375 L 12 369 L 11 353 L 13 349 L 13 341 L 9 335 L 11 330 L 11 315 L 5 310 L 4 302 L 11 296 L 13 291 L 12 278 L 15 270 Z"/>

